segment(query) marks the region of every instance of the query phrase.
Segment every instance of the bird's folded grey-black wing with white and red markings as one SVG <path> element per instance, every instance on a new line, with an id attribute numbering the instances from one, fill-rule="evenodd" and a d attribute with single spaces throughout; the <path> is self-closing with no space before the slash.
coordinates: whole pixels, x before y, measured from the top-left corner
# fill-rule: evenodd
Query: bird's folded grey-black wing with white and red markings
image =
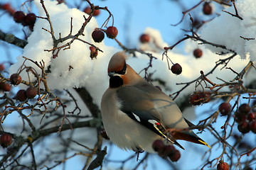
<path id="1" fill-rule="evenodd" d="M 121 111 L 126 113 L 129 118 L 183 149 L 174 137 L 167 132 L 162 115 L 155 108 L 157 98 L 152 98 L 151 94 L 137 86 L 124 86 L 120 88 L 117 90 L 117 98 L 119 98 L 121 103 Z M 161 98 L 159 99 L 161 100 Z"/>

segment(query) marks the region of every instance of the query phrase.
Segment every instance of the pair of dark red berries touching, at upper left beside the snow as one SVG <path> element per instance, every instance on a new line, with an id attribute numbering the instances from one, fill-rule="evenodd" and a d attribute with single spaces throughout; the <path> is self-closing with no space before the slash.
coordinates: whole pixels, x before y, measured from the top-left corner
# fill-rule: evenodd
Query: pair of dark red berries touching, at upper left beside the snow
<path id="1" fill-rule="evenodd" d="M 14 13 L 14 21 L 16 23 L 22 23 L 23 26 L 29 26 L 33 30 L 33 26 L 36 23 L 35 13 L 28 13 L 25 15 L 23 11 L 16 11 Z"/>

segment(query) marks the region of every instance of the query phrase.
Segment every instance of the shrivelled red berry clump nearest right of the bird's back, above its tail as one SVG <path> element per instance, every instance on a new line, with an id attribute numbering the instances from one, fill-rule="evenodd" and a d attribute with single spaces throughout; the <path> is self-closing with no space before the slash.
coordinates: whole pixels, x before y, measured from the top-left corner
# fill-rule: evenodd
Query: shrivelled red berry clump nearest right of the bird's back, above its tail
<path id="1" fill-rule="evenodd" d="M 208 103 L 210 101 L 210 91 L 195 91 L 191 94 L 189 101 L 193 106 Z"/>

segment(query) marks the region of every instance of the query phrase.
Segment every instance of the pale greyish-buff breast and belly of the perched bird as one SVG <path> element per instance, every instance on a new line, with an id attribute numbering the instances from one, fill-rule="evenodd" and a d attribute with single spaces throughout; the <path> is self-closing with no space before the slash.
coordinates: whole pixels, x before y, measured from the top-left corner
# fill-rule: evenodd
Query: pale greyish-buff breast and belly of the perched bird
<path id="1" fill-rule="evenodd" d="M 120 111 L 122 101 L 119 101 L 114 94 L 106 92 L 102 101 L 102 122 L 110 137 L 118 147 L 122 149 L 145 149 L 147 152 L 154 152 L 151 145 L 159 135 L 140 125 L 129 118 L 126 113 Z"/>

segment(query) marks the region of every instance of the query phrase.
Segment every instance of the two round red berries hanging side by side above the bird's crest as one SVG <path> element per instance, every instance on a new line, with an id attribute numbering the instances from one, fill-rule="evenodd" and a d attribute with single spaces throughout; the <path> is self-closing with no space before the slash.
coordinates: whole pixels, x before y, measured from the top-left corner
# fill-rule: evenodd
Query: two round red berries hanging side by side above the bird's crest
<path id="1" fill-rule="evenodd" d="M 116 27 L 110 26 L 107 28 L 107 30 L 105 30 L 105 33 L 107 34 L 107 38 L 114 39 L 117 37 L 118 30 Z M 104 38 L 105 38 L 105 34 L 104 34 L 103 30 L 95 29 L 94 31 L 92 31 L 92 39 L 95 42 L 102 42 L 102 40 Z"/>

